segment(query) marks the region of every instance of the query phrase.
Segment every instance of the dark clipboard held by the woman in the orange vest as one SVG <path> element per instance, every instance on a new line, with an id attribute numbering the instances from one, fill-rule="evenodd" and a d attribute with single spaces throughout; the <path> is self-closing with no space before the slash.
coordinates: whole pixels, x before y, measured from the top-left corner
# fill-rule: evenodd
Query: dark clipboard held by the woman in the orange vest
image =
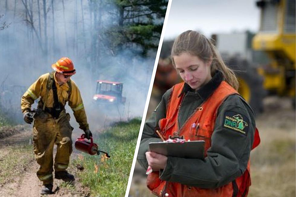
<path id="1" fill-rule="evenodd" d="M 186 159 L 204 159 L 204 140 L 173 142 L 150 142 L 151 152 L 169 157 L 181 157 Z"/>

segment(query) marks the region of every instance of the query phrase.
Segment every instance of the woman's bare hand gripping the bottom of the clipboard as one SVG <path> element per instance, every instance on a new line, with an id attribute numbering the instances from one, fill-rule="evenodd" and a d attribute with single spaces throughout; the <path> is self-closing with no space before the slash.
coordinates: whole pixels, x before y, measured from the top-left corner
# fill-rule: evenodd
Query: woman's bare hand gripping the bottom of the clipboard
<path id="1" fill-rule="evenodd" d="M 168 160 L 168 157 L 154 152 L 146 152 L 146 159 L 148 165 L 152 167 L 152 170 L 158 171 L 166 167 L 166 160 Z"/>

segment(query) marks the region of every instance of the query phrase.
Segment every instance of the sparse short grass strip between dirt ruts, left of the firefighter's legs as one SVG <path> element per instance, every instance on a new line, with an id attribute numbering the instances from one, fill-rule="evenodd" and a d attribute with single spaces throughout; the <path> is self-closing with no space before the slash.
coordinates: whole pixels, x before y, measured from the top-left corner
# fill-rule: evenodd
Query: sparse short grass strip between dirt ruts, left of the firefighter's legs
<path id="1" fill-rule="evenodd" d="M 34 160 L 32 145 L 17 145 L 0 151 L 0 185 L 9 182 L 11 172 L 17 177 Z"/>

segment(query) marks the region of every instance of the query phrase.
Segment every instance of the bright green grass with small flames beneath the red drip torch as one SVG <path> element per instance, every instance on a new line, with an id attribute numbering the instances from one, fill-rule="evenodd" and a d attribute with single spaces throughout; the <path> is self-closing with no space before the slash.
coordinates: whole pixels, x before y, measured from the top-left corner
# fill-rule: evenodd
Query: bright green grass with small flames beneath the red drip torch
<path id="1" fill-rule="evenodd" d="M 139 119 L 119 122 L 96 138 L 98 140 L 95 143 L 99 145 L 100 150 L 110 154 L 110 159 L 104 159 L 102 154 L 82 154 L 83 157 L 78 156 L 72 162 L 74 166 L 80 164 L 84 167 L 77 176 L 83 185 L 90 188 L 91 195 L 124 196 L 140 124 Z"/>

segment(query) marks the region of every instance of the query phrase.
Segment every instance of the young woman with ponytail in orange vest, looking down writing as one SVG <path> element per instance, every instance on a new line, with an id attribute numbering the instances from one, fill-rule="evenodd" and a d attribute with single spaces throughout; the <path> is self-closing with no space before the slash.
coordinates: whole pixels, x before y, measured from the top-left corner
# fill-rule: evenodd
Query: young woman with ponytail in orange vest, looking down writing
<path id="1" fill-rule="evenodd" d="M 196 31 L 180 34 L 172 63 L 184 82 L 169 89 L 146 121 L 139 163 L 153 170 L 147 186 L 158 196 L 246 196 L 250 151 L 259 142 L 254 113 L 237 93 L 238 81 L 215 46 Z M 206 157 L 185 159 L 148 151 L 170 137 L 204 140 Z"/>

